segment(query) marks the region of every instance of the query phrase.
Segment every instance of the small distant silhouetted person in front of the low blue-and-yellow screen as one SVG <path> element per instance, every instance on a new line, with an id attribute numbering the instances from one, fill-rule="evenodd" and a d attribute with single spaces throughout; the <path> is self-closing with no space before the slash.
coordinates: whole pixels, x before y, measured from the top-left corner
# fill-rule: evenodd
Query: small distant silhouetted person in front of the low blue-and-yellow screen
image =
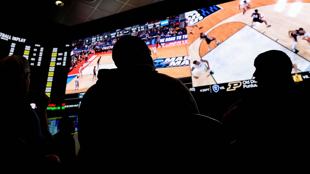
<path id="1" fill-rule="evenodd" d="M 55 154 L 60 158 L 62 168 L 76 168 L 75 132 L 76 118 L 62 117 L 58 122 L 59 132 L 54 135 Z"/>

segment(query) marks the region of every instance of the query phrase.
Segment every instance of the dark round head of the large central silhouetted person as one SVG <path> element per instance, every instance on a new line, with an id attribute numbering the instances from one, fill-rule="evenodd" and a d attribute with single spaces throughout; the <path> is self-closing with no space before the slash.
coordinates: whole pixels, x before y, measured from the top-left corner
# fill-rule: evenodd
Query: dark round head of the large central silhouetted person
<path id="1" fill-rule="evenodd" d="M 155 68 L 151 50 L 137 36 L 124 36 L 117 40 L 112 49 L 112 59 L 117 68 L 126 68 L 137 64 L 151 65 Z"/>

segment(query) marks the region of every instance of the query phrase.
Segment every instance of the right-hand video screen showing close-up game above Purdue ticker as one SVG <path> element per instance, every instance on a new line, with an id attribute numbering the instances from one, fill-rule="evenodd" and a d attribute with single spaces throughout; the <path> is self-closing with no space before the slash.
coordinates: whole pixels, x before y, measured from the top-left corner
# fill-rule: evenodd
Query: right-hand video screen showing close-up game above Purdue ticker
<path id="1" fill-rule="evenodd" d="M 309 2 L 236 0 L 186 12 L 190 90 L 217 93 L 257 87 L 254 59 L 272 49 L 290 57 L 295 82 L 308 79 Z M 275 82 L 279 74 L 268 62 L 266 71 Z"/>

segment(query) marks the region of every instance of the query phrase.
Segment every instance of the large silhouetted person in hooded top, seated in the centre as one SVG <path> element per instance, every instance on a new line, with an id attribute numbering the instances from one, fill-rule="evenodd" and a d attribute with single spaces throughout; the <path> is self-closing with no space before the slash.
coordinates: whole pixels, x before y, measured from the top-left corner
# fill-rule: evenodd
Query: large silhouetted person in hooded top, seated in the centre
<path id="1" fill-rule="evenodd" d="M 155 70 L 151 50 L 136 36 L 120 38 L 112 58 L 117 68 L 100 69 L 82 98 L 78 159 L 93 167 L 174 162 L 172 154 L 184 155 L 190 142 L 189 125 L 180 120 L 199 113 L 193 96 L 179 79 Z"/>

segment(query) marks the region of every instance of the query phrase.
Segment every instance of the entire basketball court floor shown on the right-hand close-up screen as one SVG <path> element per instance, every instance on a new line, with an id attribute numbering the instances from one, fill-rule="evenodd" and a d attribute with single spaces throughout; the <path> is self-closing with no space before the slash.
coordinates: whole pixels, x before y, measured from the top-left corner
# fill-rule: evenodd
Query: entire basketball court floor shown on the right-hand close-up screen
<path id="1" fill-rule="evenodd" d="M 299 52 L 297 54 L 292 52 L 290 47 L 293 44 L 293 40 L 292 37 L 288 36 L 288 31 L 298 28 L 303 28 L 306 32 L 310 30 L 310 22 L 309 20 L 305 20 L 305 16 L 308 16 L 310 13 L 309 2 L 309 0 L 250 1 L 251 8 L 247 9 L 244 15 L 242 9 L 238 9 L 240 1 L 219 4 L 223 9 L 207 16 L 197 24 L 203 26 L 203 32 L 205 34 L 211 34 L 217 40 L 221 40 L 222 43 L 216 45 L 215 42 L 211 42 L 211 51 L 208 52 L 206 41 L 199 37 L 198 31 L 194 29 L 194 34 L 188 36 L 191 62 L 200 60 L 201 58 L 206 59 L 209 61 L 211 70 L 214 71 L 214 74 L 210 74 L 194 70 L 193 72 L 199 78 L 192 79 L 193 86 L 251 79 L 255 70 L 253 66 L 255 57 L 259 53 L 271 49 L 284 51 L 289 55 L 293 64 L 297 64 L 297 68 L 300 71 L 307 71 L 309 69 L 308 62 L 310 61 L 308 42 L 302 40 L 299 36 L 299 42 L 295 47 Z M 264 16 L 263 19 L 271 27 L 267 28 L 264 23 L 259 22 L 255 22 L 253 28 L 250 27 L 253 20 L 253 17 L 250 16 L 254 13 L 255 9 L 258 9 L 258 13 Z M 241 33 L 245 30 L 247 31 Z M 235 35 L 238 36 L 238 39 L 232 41 L 236 37 Z M 256 49 L 254 50 L 251 49 L 253 45 L 256 45 Z M 229 54 L 223 55 L 225 53 Z M 228 58 L 225 59 L 225 56 L 231 57 L 231 60 Z M 215 60 L 215 57 L 222 59 L 222 61 Z M 242 65 L 242 68 L 240 65 Z M 237 69 L 241 69 L 242 71 L 237 71 Z M 272 67 L 266 66 L 266 70 L 272 72 Z M 247 73 L 247 75 L 243 73 Z"/>

